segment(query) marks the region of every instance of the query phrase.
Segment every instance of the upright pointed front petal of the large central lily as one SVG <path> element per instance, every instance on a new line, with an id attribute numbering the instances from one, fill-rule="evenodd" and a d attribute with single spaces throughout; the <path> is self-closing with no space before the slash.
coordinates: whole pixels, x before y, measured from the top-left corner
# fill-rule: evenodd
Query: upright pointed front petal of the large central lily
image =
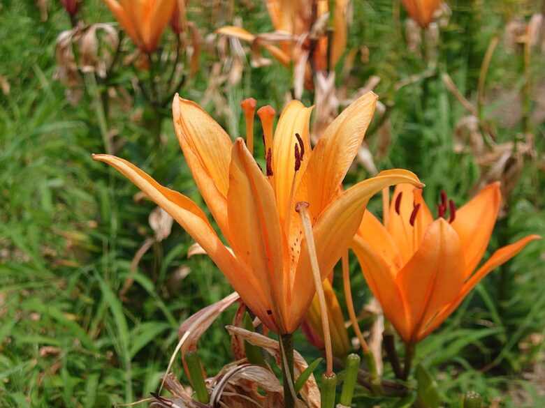
<path id="1" fill-rule="evenodd" d="M 233 146 L 229 179 L 227 208 L 231 247 L 263 288 L 276 326 L 287 333 L 284 331 L 288 296 L 284 291 L 284 252 L 287 251 L 275 192 L 243 139 L 237 139 Z M 244 282 L 246 277 L 239 279 Z"/>

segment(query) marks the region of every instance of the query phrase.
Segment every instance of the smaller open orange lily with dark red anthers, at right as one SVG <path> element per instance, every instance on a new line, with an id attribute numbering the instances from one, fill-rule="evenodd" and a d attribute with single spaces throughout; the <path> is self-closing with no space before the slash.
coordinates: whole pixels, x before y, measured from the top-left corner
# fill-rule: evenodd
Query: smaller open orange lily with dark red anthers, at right
<path id="1" fill-rule="evenodd" d="M 437 220 L 421 190 L 398 185 L 393 197 L 386 227 L 366 211 L 352 249 L 384 315 L 407 343 L 434 331 L 482 278 L 539 239 L 530 235 L 500 248 L 475 271 L 500 209 L 500 183 L 459 210 L 442 192 Z"/>

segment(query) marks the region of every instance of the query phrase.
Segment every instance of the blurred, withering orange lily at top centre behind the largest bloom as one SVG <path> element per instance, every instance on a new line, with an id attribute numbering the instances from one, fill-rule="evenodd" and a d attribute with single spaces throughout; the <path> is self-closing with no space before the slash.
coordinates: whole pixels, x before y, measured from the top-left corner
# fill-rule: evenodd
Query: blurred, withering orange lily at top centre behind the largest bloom
<path id="1" fill-rule="evenodd" d="M 297 65 L 303 56 L 315 71 L 328 68 L 328 37 L 326 19 L 330 10 L 328 0 L 268 0 L 267 9 L 275 30 L 291 35 L 291 40 L 281 40 L 279 50 L 267 43 L 266 36 L 254 36 L 240 27 L 223 27 L 217 32 L 253 43 L 261 39 L 264 47 L 280 63 Z M 330 67 L 334 68 L 347 47 L 347 0 L 335 0 L 333 36 L 330 47 Z M 304 61 L 303 61 L 304 62 Z M 310 72 L 310 71 L 309 71 Z"/>

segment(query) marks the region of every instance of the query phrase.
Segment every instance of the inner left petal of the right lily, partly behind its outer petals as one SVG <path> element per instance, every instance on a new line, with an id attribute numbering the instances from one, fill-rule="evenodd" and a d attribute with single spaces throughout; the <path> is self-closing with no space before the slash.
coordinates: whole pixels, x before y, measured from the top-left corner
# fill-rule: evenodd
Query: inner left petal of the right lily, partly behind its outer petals
<path id="1" fill-rule="evenodd" d="M 384 259 L 393 276 L 398 274 L 403 266 L 398 247 L 382 222 L 377 220 L 369 210 L 365 210 L 356 236 L 368 243 L 377 255 Z"/>

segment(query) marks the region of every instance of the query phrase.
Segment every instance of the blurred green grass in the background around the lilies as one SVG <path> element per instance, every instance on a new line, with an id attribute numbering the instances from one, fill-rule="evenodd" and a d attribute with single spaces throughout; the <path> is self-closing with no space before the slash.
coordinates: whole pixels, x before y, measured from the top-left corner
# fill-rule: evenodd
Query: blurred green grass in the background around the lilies
<path id="1" fill-rule="evenodd" d="M 208 5 L 189 10 L 203 38 L 231 24 L 233 16 L 255 33 L 273 29 L 261 2 L 235 1 L 231 14 L 212 13 Z M 442 74 L 449 73 L 463 95 L 474 100 L 486 48 L 499 36 L 486 77 L 484 115 L 498 142 L 521 139 L 531 130 L 542 158 L 545 57 L 539 50 L 532 53 L 534 119 L 525 129 L 518 98 L 523 63 L 520 53 L 504 46 L 504 30 L 513 17 L 528 20 L 541 5 L 456 0 L 449 6 L 453 15 L 440 30 L 437 66 L 430 75 L 421 75 L 429 66 L 407 50 L 405 15 L 396 17 L 399 3 L 354 1 L 349 49 L 358 52 L 346 84 L 354 91 L 370 75 L 381 77 L 375 91 L 392 108 L 390 140 L 377 167 L 411 169 L 426 183 L 428 203 L 437 202 L 444 189 L 460 205 L 472 195 L 480 170 L 473 156 L 454 151 L 456 123 L 466 113 Z M 53 80 L 55 40 L 70 22 L 59 1 L 47 10 L 43 21 L 32 1 L 8 1 L 0 9 L 0 75 L 8 85 L 0 93 L 0 405 L 104 407 L 133 402 L 157 388 L 180 322 L 231 288 L 210 260 L 187 258 L 191 239 L 175 225 L 131 273 L 136 282 L 129 292 L 118 296 L 133 257 L 153 236 L 148 216 L 154 206 L 136 201 L 132 183 L 92 161 L 91 153 L 105 149 L 96 101 L 84 93 L 78 105 L 70 105 L 64 87 Z M 113 18 L 100 1 L 85 0 L 82 20 Z M 196 78 L 180 91 L 183 96 L 202 100 L 216 59 L 213 52 L 203 52 Z M 416 80 L 398 89 L 412 75 Z M 289 89 L 290 74 L 277 63 L 251 68 L 246 61 L 240 83 L 226 82 L 217 89 L 228 109 L 218 112 L 213 103 L 204 107 L 235 137 L 243 129 L 240 100 L 253 96 L 259 105 L 269 103 L 279 110 Z M 312 94 L 305 92 L 303 102 L 310 105 Z M 138 96 L 129 109 L 110 109 L 115 114 L 109 130 L 121 141 L 117 154 L 202 204 L 168 112 L 158 142 L 159 135 L 135 114 L 146 109 Z M 506 115 L 515 116 L 507 125 Z M 372 152 L 384 143 L 378 133 L 366 141 Z M 545 180 L 537 163 L 525 161 L 490 253 L 526 234 L 544 233 Z M 366 176 L 355 166 L 347 183 Z M 379 199 L 370 207 L 379 212 Z M 481 282 L 442 328 L 422 342 L 417 359 L 433 373 L 445 405 L 457 406 L 459 395 L 470 389 L 502 407 L 544 405 L 544 253 L 543 241 L 532 243 Z M 355 262 L 351 273 L 361 308 L 370 292 Z M 225 313 L 201 340 L 199 354 L 210 373 L 231 359 L 230 338 L 222 328 L 232 314 Z M 296 348 L 309 360 L 317 354 L 302 338 Z M 183 378 L 180 361 L 173 370 Z M 362 406 L 380 402 L 359 398 Z"/>

